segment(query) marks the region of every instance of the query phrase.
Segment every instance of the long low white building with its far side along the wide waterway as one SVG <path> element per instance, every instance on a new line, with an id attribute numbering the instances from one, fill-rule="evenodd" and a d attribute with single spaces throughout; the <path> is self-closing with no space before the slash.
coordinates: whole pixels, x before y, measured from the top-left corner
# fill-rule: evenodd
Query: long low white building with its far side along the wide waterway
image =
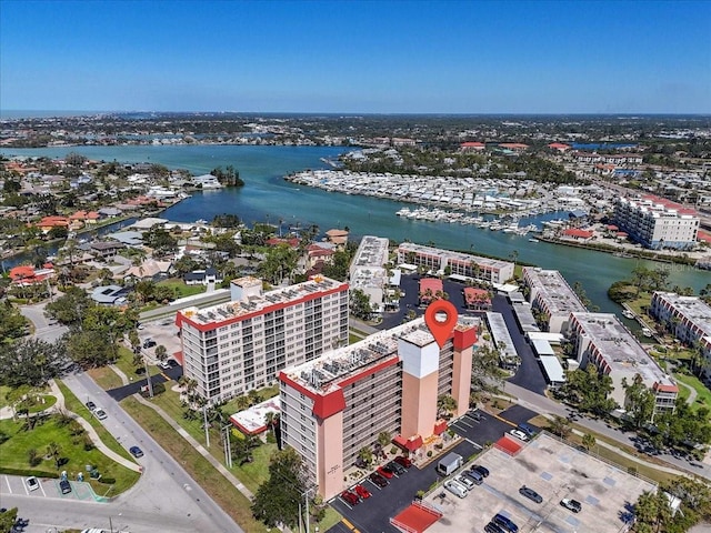
<path id="1" fill-rule="evenodd" d="M 513 278 L 511 262 L 411 242 L 403 242 L 398 247 L 398 262 L 424 266 L 434 272 L 445 272 L 449 266 L 451 274 L 497 284 L 503 284 Z"/>

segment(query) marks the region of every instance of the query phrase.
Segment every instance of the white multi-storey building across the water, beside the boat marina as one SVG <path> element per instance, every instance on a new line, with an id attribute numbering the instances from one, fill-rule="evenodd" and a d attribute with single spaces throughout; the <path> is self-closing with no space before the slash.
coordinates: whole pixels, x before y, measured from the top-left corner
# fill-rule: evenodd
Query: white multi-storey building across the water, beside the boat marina
<path id="1" fill-rule="evenodd" d="M 644 248 L 677 250 L 695 245 L 700 223 L 693 209 L 652 195 L 617 199 L 614 222 Z"/>

